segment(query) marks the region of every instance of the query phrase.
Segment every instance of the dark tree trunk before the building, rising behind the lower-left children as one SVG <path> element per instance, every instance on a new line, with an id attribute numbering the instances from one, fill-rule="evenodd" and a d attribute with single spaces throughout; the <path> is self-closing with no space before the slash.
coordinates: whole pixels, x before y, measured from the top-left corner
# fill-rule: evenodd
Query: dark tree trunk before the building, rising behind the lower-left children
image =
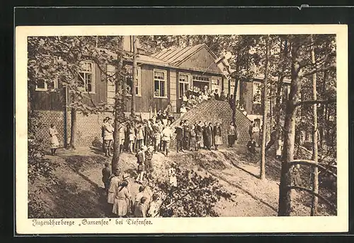
<path id="1" fill-rule="evenodd" d="M 117 37 L 117 55 L 118 55 L 118 61 L 115 64 L 115 107 L 114 107 L 114 132 L 113 132 L 113 158 L 112 158 L 112 172 L 115 172 L 118 168 L 118 162 L 119 162 L 119 157 L 120 157 L 120 146 L 119 146 L 119 141 L 120 141 L 120 117 L 123 115 L 124 116 L 124 110 L 123 108 L 125 107 L 122 102 L 124 102 L 125 99 L 125 83 L 122 82 L 122 76 L 120 75 L 122 71 L 122 66 L 123 66 L 123 55 L 121 50 L 123 49 L 123 37 Z M 120 85 L 122 84 L 122 85 Z M 122 89 L 121 89 L 122 87 Z M 123 91 L 122 95 L 122 100 L 120 100 L 120 92 L 121 90 Z"/>

